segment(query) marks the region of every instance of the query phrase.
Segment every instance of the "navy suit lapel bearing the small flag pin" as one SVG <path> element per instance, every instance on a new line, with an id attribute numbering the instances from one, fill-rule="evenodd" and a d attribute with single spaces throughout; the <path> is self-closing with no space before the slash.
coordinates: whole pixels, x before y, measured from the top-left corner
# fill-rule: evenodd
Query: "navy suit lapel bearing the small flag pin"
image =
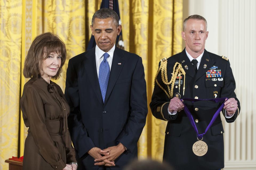
<path id="1" fill-rule="evenodd" d="M 117 81 L 117 78 L 121 73 L 123 65 L 125 64 L 125 61 L 121 59 L 122 57 L 123 57 L 122 51 L 118 47 L 115 47 L 104 103 L 106 103 L 107 99 L 109 98 L 114 88 L 115 82 Z M 121 63 L 121 64 L 118 64 L 118 63 Z"/>

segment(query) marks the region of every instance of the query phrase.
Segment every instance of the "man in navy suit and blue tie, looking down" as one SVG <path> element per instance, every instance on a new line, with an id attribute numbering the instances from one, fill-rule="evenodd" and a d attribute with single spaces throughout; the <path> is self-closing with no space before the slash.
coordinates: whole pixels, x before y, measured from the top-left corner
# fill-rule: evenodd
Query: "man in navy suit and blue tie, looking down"
<path id="1" fill-rule="evenodd" d="M 115 46 L 118 15 L 98 10 L 91 31 L 97 46 L 69 60 L 65 96 L 69 131 L 86 169 L 122 169 L 137 158 L 146 123 L 142 59 Z"/>

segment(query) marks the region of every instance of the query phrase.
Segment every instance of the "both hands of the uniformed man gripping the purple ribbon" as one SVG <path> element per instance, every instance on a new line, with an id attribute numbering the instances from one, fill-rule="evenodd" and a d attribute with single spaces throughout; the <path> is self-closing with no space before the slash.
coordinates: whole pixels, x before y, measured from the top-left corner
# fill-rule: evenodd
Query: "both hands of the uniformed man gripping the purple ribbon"
<path id="1" fill-rule="evenodd" d="M 232 116 L 235 111 L 237 110 L 237 101 L 235 100 L 235 98 L 229 98 L 225 100 L 224 103 L 224 109 L 226 109 L 226 114 L 227 116 Z M 170 104 L 168 106 L 168 110 L 170 112 L 172 111 L 181 111 L 184 108 L 183 103 L 181 102 L 181 100 L 177 97 L 174 97 L 170 100 Z"/>

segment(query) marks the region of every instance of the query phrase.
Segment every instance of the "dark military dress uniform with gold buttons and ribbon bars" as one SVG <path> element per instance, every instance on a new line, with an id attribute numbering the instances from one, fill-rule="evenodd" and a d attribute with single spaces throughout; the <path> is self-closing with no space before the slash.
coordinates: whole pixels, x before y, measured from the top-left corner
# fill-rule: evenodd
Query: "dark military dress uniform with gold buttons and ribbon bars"
<path id="1" fill-rule="evenodd" d="M 211 98 L 235 98 L 238 108 L 231 118 L 226 118 L 228 123 L 234 122 L 240 111 L 240 103 L 236 98 L 235 80 L 227 57 L 213 53 L 203 53 L 198 71 L 195 72 L 192 63 L 186 55 L 185 49 L 176 55 L 164 59 L 159 63 L 166 64 L 166 77 L 159 71 L 156 76 L 154 92 L 150 102 L 150 108 L 154 117 L 168 121 L 165 131 L 165 144 L 163 161 L 170 163 L 175 169 L 220 169 L 224 167 L 224 143 L 223 126 L 218 115 L 213 125 L 203 136 L 203 141 L 208 145 L 208 151 L 203 156 L 196 156 L 192 151 L 193 144 L 197 141 L 189 118 L 184 110 L 175 115 L 169 115 L 168 106 L 173 97 L 211 99 Z M 178 62 L 182 67 L 171 84 L 165 82 L 171 80 Z M 164 71 L 164 68 L 162 69 Z M 185 71 L 185 73 L 184 73 Z M 164 81 L 163 81 L 164 80 Z M 174 81 L 175 80 L 175 81 Z M 169 86 L 169 87 L 168 87 Z M 173 93 L 171 87 L 173 87 Z M 192 114 L 199 134 L 202 134 L 214 113 L 222 103 L 212 101 L 188 102 L 184 101 Z M 225 113 L 225 110 L 222 110 Z"/>

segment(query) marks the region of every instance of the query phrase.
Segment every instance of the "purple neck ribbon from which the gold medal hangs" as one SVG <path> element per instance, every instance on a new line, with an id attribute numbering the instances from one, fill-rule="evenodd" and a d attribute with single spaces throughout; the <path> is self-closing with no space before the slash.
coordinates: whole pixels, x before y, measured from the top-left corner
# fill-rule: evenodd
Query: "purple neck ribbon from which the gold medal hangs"
<path id="1" fill-rule="evenodd" d="M 190 113 L 189 109 L 187 108 L 187 106 L 185 105 L 185 103 L 183 103 L 184 105 L 184 111 L 187 115 L 187 117 L 189 118 L 190 122 L 191 122 L 191 125 L 193 126 L 195 132 L 197 133 L 197 138 L 200 138 L 202 139 L 203 138 L 203 135 L 206 134 L 206 132 L 208 131 L 208 129 L 211 127 L 211 125 L 213 125 L 213 122 L 215 121 L 215 119 L 217 118 L 217 116 L 219 115 L 219 113 L 221 112 L 221 110 L 223 109 L 224 107 L 224 103 L 225 103 L 225 99 L 227 99 L 227 97 L 223 97 L 223 98 L 215 98 L 215 99 L 191 99 L 191 98 L 183 98 L 181 99 L 181 102 L 183 103 L 183 101 L 190 101 L 190 102 L 198 102 L 198 101 L 201 101 L 201 100 L 210 100 L 210 101 L 213 101 L 215 103 L 217 102 L 222 102 L 222 105 L 219 107 L 219 109 L 215 112 L 215 114 L 213 115 L 213 118 L 211 119 L 209 125 L 206 127 L 205 129 L 205 132 L 202 133 L 202 134 L 198 134 L 198 130 L 197 130 L 197 126 L 195 125 L 195 122 L 194 122 L 194 119 L 193 119 L 193 116 L 192 114 Z M 183 100 L 183 101 L 182 101 Z"/>

